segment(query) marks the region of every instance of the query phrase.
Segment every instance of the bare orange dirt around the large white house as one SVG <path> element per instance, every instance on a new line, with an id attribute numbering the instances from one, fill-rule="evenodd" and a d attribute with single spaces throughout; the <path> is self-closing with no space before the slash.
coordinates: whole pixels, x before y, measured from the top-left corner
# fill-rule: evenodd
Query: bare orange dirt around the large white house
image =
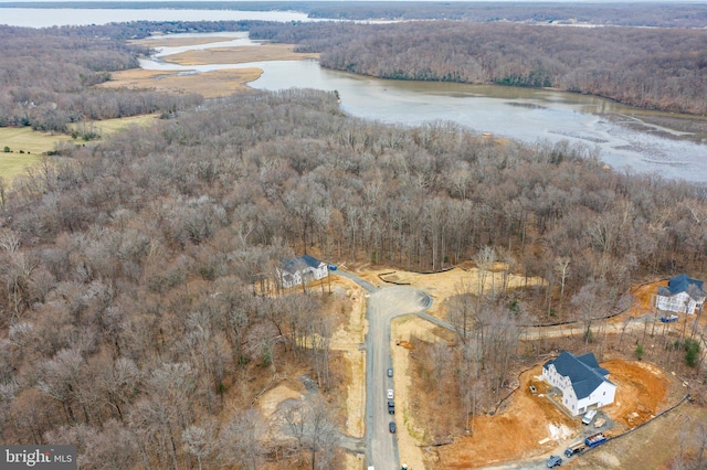
<path id="1" fill-rule="evenodd" d="M 645 423 L 679 400 L 676 381 L 652 364 L 613 360 L 601 365 L 610 371 L 609 378 L 618 385 L 615 403 L 602 408 L 618 424 L 609 435 Z M 431 452 L 426 468 L 462 469 L 517 461 L 561 451 L 572 442 L 582 425 L 579 418 L 569 418 L 545 396 L 548 385 L 537 378 L 540 373 L 541 364 L 521 374 L 520 386 L 505 409 L 494 416 L 478 417 L 472 436 Z M 537 387 L 537 395 L 530 393 L 530 385 Z M 673 400 L 666 399 L 668 389 L 673 391 L 669 395 Z M 549 440 L 540 444 L 546 438 Z"/>

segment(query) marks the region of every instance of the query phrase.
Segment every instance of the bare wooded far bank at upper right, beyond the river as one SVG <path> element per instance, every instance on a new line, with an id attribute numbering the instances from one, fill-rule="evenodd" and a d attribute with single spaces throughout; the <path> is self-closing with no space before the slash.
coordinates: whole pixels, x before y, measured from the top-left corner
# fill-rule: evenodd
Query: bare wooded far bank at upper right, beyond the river
<path id="1" fill-rule="evenodd" d="M 704 30 L 435 21 L 266 25 L 251 36 L 296 43 L 320 52 L 325 67 L 381 78 L 555 87 L 707 113 Z"/>

